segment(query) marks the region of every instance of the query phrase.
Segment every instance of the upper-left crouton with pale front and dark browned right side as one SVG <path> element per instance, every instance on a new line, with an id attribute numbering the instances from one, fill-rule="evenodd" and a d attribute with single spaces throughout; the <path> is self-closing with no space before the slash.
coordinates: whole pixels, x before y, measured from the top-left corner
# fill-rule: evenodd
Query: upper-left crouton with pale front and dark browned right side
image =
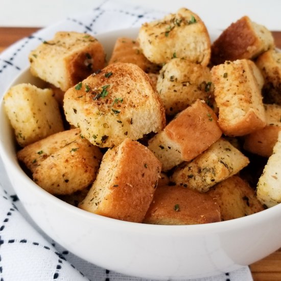
<path id="1" fill-rule="evenodd" d="M 102 44 L 91 35 L 57 32 L 29 55 L 31 73 L 66 91 L 105 65 Z"/>

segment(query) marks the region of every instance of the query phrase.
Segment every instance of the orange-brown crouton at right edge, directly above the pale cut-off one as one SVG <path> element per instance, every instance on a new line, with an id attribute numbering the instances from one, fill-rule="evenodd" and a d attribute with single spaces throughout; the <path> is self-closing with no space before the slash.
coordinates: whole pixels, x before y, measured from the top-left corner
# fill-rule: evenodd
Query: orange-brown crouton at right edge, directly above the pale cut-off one
<path id="1" fill-rule="evenodd" d="M 264 106 L 267 125 L 263 129 L 245 136 L 244 149 L 269 157 L 277 142 L 278 132 L 281 130 L 281 106 L 276 104 L 265 104 Z"/>

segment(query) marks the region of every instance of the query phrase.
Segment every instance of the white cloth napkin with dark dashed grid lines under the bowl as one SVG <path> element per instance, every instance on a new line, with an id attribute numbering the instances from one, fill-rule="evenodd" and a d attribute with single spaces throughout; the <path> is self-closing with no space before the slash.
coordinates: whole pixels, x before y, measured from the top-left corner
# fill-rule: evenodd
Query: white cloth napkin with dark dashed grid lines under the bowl
<path id="1" fill-rule="evenodd" d="M 163 16 L 143 7 L 105 1 L 84 15 L 67 18 L 24 38 L 0 55 L 0 95 L 3 95 L 21 69 L 28 66 L 28 54 L 56 31 L 97 34 L 140 26 Z M 126 276 L 87 263 L 47 237 L 30 219 L 18 200 L 0 161 L 0 281 L 37 280 L 148 280 Z M 201 281 L 252 280 L 248 267 Z"/>

